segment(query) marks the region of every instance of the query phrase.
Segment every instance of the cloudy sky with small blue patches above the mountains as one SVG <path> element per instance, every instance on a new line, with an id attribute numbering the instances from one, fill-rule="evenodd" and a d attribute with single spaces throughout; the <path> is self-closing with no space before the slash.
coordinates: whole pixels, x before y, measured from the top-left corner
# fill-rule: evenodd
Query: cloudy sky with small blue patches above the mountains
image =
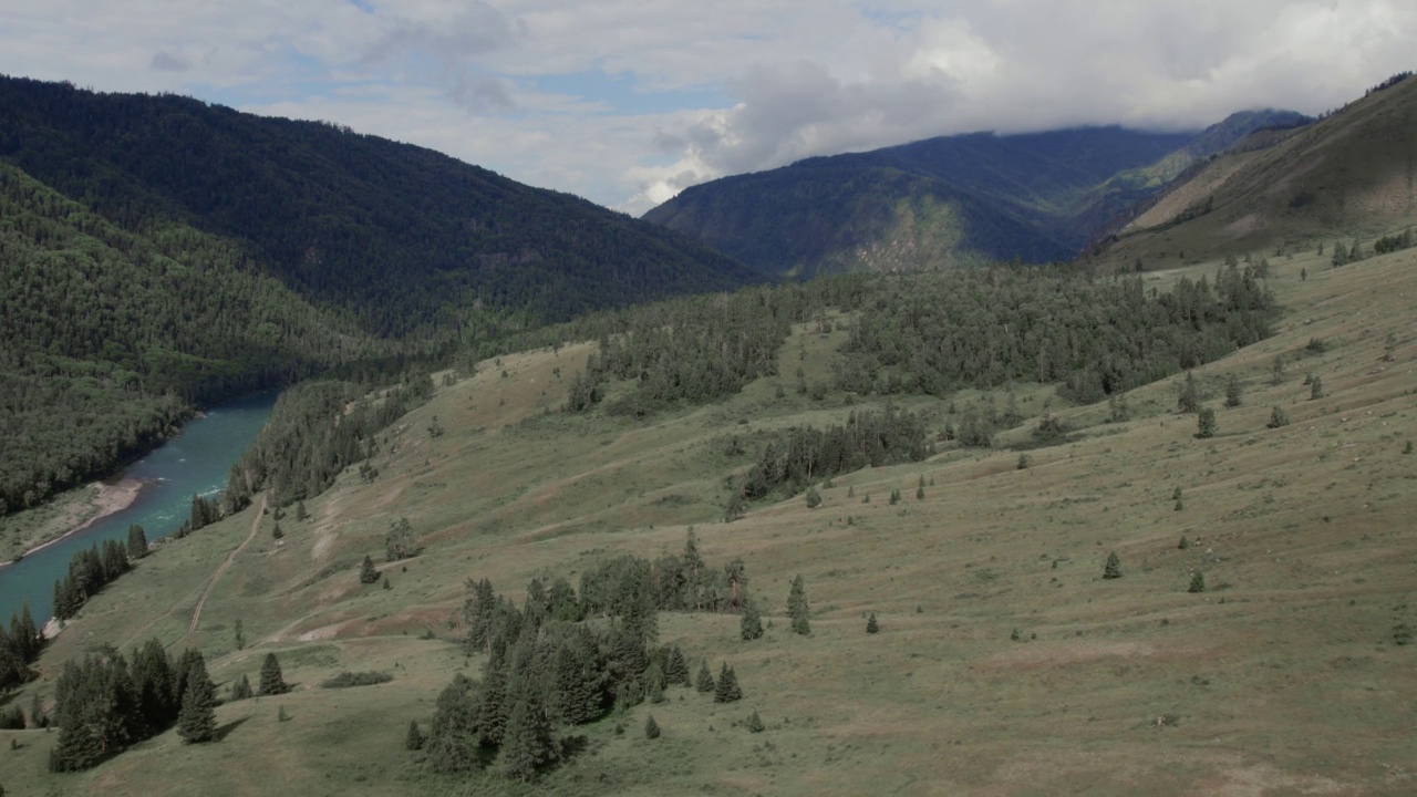
<path id="1" fill-rule="evenodd" d="M 3 74 L 324 119 L 635 216 L 813 155 L 1318 113 L 1414 68 L 1417 0 L 0 0 Z"/>

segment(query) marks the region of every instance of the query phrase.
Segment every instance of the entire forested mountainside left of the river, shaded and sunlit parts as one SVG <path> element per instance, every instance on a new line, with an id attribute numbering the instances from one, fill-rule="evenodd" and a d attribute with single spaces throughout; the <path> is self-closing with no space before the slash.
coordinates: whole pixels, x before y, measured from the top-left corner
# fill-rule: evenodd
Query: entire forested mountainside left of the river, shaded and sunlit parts
<path id="1" fill-rule="evenodd" d="M 755 281 L 435 152 L 173 95 L 0 78 L 0 515 L 197 407 Z"/>

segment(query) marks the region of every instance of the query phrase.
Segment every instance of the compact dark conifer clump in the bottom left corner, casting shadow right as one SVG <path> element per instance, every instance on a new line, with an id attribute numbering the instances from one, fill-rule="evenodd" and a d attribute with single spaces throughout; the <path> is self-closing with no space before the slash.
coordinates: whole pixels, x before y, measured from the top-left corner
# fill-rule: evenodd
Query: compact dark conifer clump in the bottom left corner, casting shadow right
<path id="1" fill-rule="evenodd" d="M 55 681 L 50 718 L 60 737 L 51 771 L 89 769 L 177 725 L 184 742 L 215 737 L 217 688 L 200 651 L 170 658 L 156 638 L 123 658 L 105 645 L 82 662 L 68 661 Z"/>

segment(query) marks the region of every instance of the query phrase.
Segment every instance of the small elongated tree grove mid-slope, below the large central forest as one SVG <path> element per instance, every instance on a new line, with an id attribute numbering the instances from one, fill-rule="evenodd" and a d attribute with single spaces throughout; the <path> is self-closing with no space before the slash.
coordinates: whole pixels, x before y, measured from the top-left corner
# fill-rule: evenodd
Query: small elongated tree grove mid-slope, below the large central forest
<path id="1" fill-rule="evenodd" d="M 871 465 L 920 462 L 931 452 L 924 421 L 910 411 L 852 413 L 845 425 L 794 427 L 769 440 L 738 485 L 743 501 L 774 489 L 796 492 L 819 479 Z"/>

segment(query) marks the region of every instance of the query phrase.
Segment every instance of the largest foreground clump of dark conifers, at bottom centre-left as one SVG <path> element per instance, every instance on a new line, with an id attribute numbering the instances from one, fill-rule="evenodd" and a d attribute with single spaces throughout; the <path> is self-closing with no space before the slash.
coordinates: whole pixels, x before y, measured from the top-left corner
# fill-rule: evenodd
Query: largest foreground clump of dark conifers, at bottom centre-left
<path id="1" fill-rule="evenodd" d="M 483 676 L 455 675 L 438 698 L 427 739 L 415 725 L 408 746 L 424 749 L 435 771 L 496 763 L 516 780 L 537 777 L 565 754 L 560 728 L 645 701 L 659 703 L 666 688 L 690 685 L 683 651 L 655 644 L 656 613 L 660 604 L 726 611 L 733 596 L 747 598 L 741 562 L 726 569 L 730 586 L 717 600 L 704 589 L 711 573 L 690 535 L 682 557 L 604 563 L 582 576 L 581 596 L 565 579 L 550 589 L 534 580 L 520 608 L 487 580 L 469 580 L 465 648 L 487 654 Z M 700 669 L 700 691 L 714 692 L 720 702 L 743 696 L 727 665 L 717 681 L 707 676 L 707 662 Z"/>

